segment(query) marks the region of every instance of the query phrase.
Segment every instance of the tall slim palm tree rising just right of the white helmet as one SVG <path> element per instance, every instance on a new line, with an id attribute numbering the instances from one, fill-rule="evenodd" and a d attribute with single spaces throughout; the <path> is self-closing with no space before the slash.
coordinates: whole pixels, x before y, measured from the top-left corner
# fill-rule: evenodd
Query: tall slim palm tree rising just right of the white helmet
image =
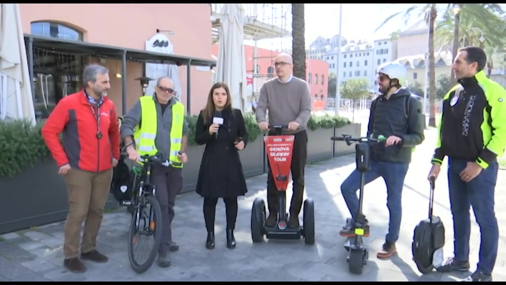
<path id="1" fill-rule="evenodd" d="M 436 79 L 435 79 L 435 65 L 434 65 L 434 26 L 438 16 L 437 4 L 413 4 L 405 11 L 398 12 L 388 16 L 383 23 L 381 23 L 376 31 L 383 27 L 387 22 L 393 18 L 402 15 L 405 23 L 413 13 L 417 13 L 417 17 L 424 16 L 429 25 L 429 126 L 436 126 Z"/>

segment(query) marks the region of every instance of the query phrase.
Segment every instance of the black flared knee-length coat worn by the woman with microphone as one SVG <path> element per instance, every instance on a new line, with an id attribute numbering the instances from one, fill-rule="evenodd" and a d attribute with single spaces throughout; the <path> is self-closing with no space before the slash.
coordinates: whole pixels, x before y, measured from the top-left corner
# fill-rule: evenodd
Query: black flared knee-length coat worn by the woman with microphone
<path id="1" fill-rule="evenodd" d="M 223 125 L 215 134 L 209 134 L 212 119 L 204 124 L 202 112 L 198 116 L 195 141 L 205 145 L 196 192 L 202 197 L 228 198 L 242 196 L 247 192 L 239 151 L 234 141 L 242 137 L 244 146 L 248 138 L 242 113 L 237 109 L 222 111 Z"/>

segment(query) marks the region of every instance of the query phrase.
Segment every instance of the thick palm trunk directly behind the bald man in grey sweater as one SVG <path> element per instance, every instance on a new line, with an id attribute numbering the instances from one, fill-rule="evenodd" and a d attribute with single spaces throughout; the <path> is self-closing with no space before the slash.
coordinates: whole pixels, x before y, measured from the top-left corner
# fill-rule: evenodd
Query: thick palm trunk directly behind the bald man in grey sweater
<path id="1" fill-rule="evenodd" d="M 304 3 L 291 4 L 291 50 L 293 57 L 293 76 L 306 80 L 306 23 Z"/>

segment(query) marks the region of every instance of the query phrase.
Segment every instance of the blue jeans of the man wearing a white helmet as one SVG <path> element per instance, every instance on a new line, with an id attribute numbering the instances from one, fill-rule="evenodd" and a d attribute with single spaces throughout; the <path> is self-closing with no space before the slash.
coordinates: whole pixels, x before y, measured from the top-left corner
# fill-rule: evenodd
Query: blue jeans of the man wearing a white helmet
<path id="1" fill-rule="evenodd" d="M 388 234 L 386 240 L 394 243 L 399 239 L 402 219 L 402 189 L 409 164 L 394 162 L 370 161 L 370 170 L 365 173 L 365 184 L 371 183 L 378 177 L 383 177 L 387 185 L 387 207 L 390 212 Z M 352 218 L 358 211 L 357 190 L 360 188 L 360 172 L 357 169 L 341 184 L 341 194 L 345 198 Z"/>

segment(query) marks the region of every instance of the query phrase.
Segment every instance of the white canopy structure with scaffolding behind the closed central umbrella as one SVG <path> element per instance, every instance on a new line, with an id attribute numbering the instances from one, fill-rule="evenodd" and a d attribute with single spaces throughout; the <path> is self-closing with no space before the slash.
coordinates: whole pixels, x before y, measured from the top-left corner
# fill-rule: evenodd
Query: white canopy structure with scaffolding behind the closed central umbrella
<path id="1" fill-rule="evenodd" d="M 221 9 L 224 4 L 211 4 L 213 44 L 220 40 Z M 244 40 L 265 40 L 291 36 L 290 4 L 243 4 L 245 9 Z M 290 29 L 288 29 L 290 27 Z"/>

